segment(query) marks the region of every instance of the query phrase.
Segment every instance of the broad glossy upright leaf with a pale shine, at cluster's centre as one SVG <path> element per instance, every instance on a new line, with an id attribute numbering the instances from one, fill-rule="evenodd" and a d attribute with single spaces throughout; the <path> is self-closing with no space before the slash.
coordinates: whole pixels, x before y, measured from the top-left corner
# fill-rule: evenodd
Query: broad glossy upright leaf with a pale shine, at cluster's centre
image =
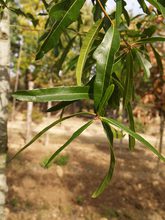
<path id="1" fill-rule="evenodd" d="M 111 26 L 106 32 L 102 43 L 94 52 L 96 60 L 96 79 L 94 84 L 94 104 L 97 110 L 103 94 L 111 82 L 115 54 L 120 47 L 120 34 L 116 27 Z"/>

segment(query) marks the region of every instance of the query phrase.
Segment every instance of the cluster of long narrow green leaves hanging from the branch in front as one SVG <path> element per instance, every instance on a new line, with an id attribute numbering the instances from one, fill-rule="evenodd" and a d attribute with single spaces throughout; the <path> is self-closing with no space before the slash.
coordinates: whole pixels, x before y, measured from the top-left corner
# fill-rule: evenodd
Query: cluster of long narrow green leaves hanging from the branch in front
<path id="1" fill-rule="evenodd" d="M 92 195 L 93 198 L 96 198 L 104 191 L 113 176 L 116 160 L 113 148 L 114 128 L 117 132 L 123 130 L 129 135 L 130 150 L 134 149 L 135 140 L 138 140 L 165 162 L 165 157 L 135 132 L 132 113 L 132 102 L 135 97 L 134 79 L 139 69 L 143 69 L 142 77 L 145 80 L 150 75 L 151 64 L 148 47 L 154 47 L 156 42 L 164 42 L 165 38 L 155 35 L 155 26 L 153 27 L 153 25 L 145 22 L 136 22 L 136 17 L 131 18 L 126 10 L 126 2 L 124 0 L 115 1 L 116 10 L 111 14 L 106 12 L 106 0 L 92 0 L 93 18 L 91 17 L 91 19 L 93 19 L 93 25 L 85 37 L 83 36 L 82 43 L 82 36 L 79 35 L 83 26 L 81 8 L 85 0 L 58 0 L 50 3 L 44 0 L 42 2 L 44 3 L 47 20 L 45 33 L 40 37 L 36 60 L 46 56 L 50 50 L 57 50 L 66 36 L 69 39 L 69 45 L 72 44 L 72 41 L 79 42 L 81 48 L 80 56 L 74 57 L 68 64 L 68 69 L 74 69 L 75 64 L 77 64 L 76 77 L 78 85 L 74 87 L 18 91 L 14 94 L 14 97 L 19 100 L 33 102 L 62 101 L 58 106 L 52 108 L 52 111 L 63 109 L 65 106 L 71 105 L 80 99 L 92 100 L 93 113 L 76 113 L 60 118 L 38 133 L 15 156 L 25 150 L 48 129 L 61 123 L 61 121 L 80 114 L 90 115 L 92 119 L 75 131 L 69 140 L 48 159 L 45 167 L 49 167 L 56 156 L 75 138 L 94 123 L 95 120 L 100 120 L 109 142 L 110 166 L 102 183 Z M 162 1 L 148 0 L 153 7 L 148 7 L 144 1 L 138 2 L 145 14 L 142 16 L 146 17 L 146 19 L 148 16 L 157 17 L 158 14 L 165 16 L 165 5 Z M 2 7 L 5 7 L 6 4 L 2 1 Z M 19 14 L 22 15 L 21 12 Z M 69 45 L 63 49 L 60 67 L 69 51 L 75 50 L 73 46 L 69 47 Z M 155 53 L 155 58 L 161 65 L 161 56 Z M 113 118 L 107 117 L 107 108 L 111 110 L 118 109 L 121 100 L 123 101 L 124 111 L 128 115 L 129 127 Z"/>

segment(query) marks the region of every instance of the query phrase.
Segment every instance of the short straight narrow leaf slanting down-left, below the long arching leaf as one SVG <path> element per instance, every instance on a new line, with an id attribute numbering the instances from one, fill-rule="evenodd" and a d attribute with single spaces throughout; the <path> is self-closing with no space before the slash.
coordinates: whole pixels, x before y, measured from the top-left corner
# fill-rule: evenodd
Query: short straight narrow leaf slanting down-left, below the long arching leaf
<path id="1" fill-rule="evenodd" d="M 52 156 L 48 159 L 46 164 L 44 165 L 45 168 L 48 168 L 50 164 L 55 160 L 56 156 L 64 150 L 75 138 L 77 138 L 84 130 L 86 130 L 91 124 L 93 123 L 93 120 L 90 120 L 85 125 L 80 127 L 77 131 L 73 133 L 73 135 L 65 142 L 64 145 L 62 145 Z"/>

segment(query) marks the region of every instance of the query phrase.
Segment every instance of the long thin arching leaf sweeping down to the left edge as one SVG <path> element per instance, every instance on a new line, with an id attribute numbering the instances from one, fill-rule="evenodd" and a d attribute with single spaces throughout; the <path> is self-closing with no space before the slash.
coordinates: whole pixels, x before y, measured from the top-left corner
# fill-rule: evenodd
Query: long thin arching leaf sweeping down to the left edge
<path id="1" fill-rule="evenodd" d="M 78 116 L 78 115 L 93 115 L 91 113 L 88 112 L 79 112 L 79 113 L 75 113 L 69 116 L 66 116 L 64 118 L 60 118 L 58 120 L 56 120 L 55 122 L 51 123 L 49 126 L 45 127 L 42 131 L 40 131 L 37 135 L 35 135 L 31 141 L 29 141 L 24 147 L 22 147 L 11 159 L 8 160 L 8 162 L 10 162 L 11 160 L 13 160 L 15 157 L 17 157 L 22 151 L 24 151 L 27 147 L 29 147 L 31 144 L 33 144 L 39 137 L 41 137 L 45 132 L 47 132 L 49 129 L 51 129 L 52 127 L 54 127 L 55 125 L 61 123 L 62 121 L 65 121 L 69 118 Z"/>

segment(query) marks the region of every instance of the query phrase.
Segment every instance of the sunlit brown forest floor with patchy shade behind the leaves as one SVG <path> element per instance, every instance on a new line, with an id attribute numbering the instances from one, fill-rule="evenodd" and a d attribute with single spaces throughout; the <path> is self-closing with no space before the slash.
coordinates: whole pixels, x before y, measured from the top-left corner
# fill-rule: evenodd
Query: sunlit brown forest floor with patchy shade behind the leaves
<path id="1" fill-rule="evenodd" d="M 54 118 L 52 117 L 50 122 Z M 77 138 L 49 169 L 41 164 L 87 119 L 63 122 L 7 166 L 8 220 L 165 220 L 165 164 L 137 143 L 115 141 L 116 169 L 109 187 L 97 199 L 91 194 L 109 165 L 108 144 L 98 121 Z M 49 121 L 33 124 L 34 134 Z M 146 138 L 158 143 L 157 122 Z M 25 122 L 9 122 L 9 156 L 24 145 Z"/>

